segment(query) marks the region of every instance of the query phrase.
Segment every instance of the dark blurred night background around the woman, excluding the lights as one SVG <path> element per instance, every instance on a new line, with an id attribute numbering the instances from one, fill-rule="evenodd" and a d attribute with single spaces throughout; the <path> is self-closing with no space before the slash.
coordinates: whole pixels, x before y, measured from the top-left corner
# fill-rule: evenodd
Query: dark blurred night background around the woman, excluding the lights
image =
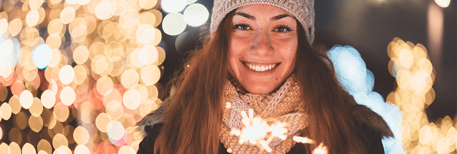
<path id="1" fill-rule="evenodd" d="M 382 1 L 382 2 L 381 2 Z M 210 15 L 213 0 L 197 3 L 208 8 Z M 451 0 L 447 8 L 440 8 L 444 15 L 441 52 L 431 50 L 428 39 L 428 8 L 436 5 L 433 0 L 316 0 L 315 43 L 332 47 L 334 44 L 350 45 L 360 52 L 367 69 L 375 77 L 374 90 L 384 99 L 396 87 L 395 78 L 389 74 L 387 45 L 395 37 L 428 49 L 428 55 L 436 71 L 433 88 L 436 98 L 426 109 L 429 121 L 457 113 L 457 4 Z M 160 9 L 159 9 L 160 10 Z M 163 17 L 167 15 L 163 12 Z M 208 19 L 206 26 L 209 26 Z M 204 25 L 205 26 L 205 25 Z M 157 28 L 161 30 L 161 25 Z M 186 53 L 195 48 L 202 27 L 187 26 L 177 36 L 162 32 L 158 46 L 166 50 L 163 64 L 164 76 L 159 81 L 166 85 L 175 70 L 181 67 Z"/>

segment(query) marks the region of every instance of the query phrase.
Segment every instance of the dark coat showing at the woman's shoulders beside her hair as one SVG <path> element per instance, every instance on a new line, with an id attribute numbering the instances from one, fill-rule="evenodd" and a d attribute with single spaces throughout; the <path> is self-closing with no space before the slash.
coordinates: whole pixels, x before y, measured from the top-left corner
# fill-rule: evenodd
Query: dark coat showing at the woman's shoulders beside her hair
<path id="1" fill-rule="evenodd" d="M 147 133 L 139 145 L 138 154 L 153 153 L 155 139 L 162 127 L 162 123 L 159 121 L 161 121 L 161 114 L 164 112 L 165 109 L 158 109 L 158 111 L 155 112 L 156 114 L 148 115 L 148 117 L 145 117 L 145 119 L 138 124 L 143 133 Z M 381 142 L 382 137 L 394 136 L 385 121 L 378 114 L 362 105 L 353 105 L 351 116 L 357 125 L 360 137 L 364 139 L 368 153 L 384 153 L 384 148 Z M 219 153 L 228 154 L 226 150 L 227 149 L 221 143 Z M 287 153 L 303 154 L 304 151 L 305 149 L 303 144 L 297 143 Z"/>

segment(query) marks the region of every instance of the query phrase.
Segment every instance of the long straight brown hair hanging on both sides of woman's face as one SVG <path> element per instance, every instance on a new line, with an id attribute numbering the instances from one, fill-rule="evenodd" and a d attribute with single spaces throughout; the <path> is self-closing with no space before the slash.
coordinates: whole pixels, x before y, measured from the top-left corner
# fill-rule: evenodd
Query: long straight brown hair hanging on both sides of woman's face
<path id="1" fill-rule="evenodd" d="M 222 120 L 222 87 L 228 75 L 228 39 L 235 11 L 225 16 L 206 45 L 194 51 L 174 79 L 177 93 L 170 102 L 154 153 L 218 153 Z M 339 85 L 330 59 L 312 48 L 298 23 L 296 74 L 309 126 L 303 135 L 323 142 L 329 153 L 366 153 L 349 114 L 353 99 Z M 315 145 L 306 145 L 309 153 Z"/>

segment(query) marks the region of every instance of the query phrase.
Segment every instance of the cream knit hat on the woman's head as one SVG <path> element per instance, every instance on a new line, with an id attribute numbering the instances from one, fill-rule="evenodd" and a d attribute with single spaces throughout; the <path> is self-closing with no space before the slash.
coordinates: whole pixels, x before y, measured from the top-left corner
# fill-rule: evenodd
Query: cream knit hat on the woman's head
<path id="1" fill-rule="evenodd" d="M 214 0 L 211 15 L 211 33 L 232 10 L 250 4 L 268 4 L 289 12 L 302 24 L 310 44 L 314 40 L 314 0 Z"/>

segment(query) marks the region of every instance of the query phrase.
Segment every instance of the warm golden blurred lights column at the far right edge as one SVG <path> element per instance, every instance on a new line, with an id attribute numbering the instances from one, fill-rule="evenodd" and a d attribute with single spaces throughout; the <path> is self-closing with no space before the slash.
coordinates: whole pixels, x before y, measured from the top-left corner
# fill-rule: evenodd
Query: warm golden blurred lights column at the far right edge
<path id="1" fill-rule="evenodd" d="M 435 99 L 432 88 L 435 69 L 422 44 L 414 45 L 395 38 L 387 47 L 389 72 L 397 78 L 398 87 L 386 101 L 397 105 L 403 114 L 403 144 L 407 153 L 455 152 L 456 117 L 429 122 L 425 109 Z"/>

